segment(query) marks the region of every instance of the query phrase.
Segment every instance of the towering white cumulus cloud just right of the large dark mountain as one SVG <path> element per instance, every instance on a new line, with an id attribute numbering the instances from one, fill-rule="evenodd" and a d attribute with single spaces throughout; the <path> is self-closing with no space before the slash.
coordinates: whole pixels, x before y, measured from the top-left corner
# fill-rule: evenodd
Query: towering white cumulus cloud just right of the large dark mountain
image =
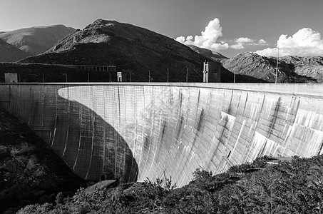
<path id="1" fill-rule="evenodd" d="M 222 36 L 222 27 L 220 26 L 220 20 L 215 18 L 210 21 L 205 27 L 205 31 L 201 32 L 200 36 L 179 36 L 176 41 L 183 43 L 185 45 L 195 45 L 204 49 L 218 50 L 218 49 L 228 49 L 229 44 L 222 42 L 218 43 L 217 39 Z"/>

